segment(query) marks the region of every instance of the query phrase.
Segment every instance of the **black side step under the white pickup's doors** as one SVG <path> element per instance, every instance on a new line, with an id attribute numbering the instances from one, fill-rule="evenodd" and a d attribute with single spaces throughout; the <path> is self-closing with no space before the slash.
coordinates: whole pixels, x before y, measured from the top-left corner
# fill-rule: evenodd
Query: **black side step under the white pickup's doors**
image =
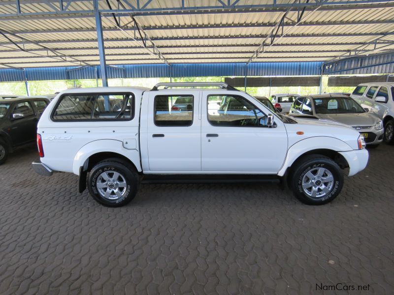
<path id="1" fill-rule="evenodd" d="M 212 175 L 212 174 L 152 174 L 144 175 L 142 183 L 279 183 L 277 175 Z"/>

